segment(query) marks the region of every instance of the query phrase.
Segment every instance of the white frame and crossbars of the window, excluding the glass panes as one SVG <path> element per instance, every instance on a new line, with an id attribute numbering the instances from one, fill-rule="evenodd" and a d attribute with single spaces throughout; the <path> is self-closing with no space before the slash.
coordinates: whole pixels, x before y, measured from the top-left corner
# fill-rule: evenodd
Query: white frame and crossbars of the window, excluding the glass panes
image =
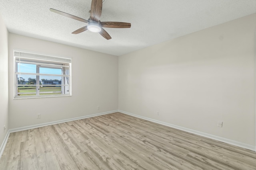
<path id="1" fill-rule="evenodd" d="M 35 64 L 36 73 L 32 72 L 18 72 L 18 63 Z M 60 68 L 62 74 L 43 74 L 40 73 L 40 68 Z M 34 75 L 36 76 L 36 84 L 18 84 L 20 75 Z M 40 76 L 59 76 L 62 77 L 61 84 L 40 84 Z M 19 86 L 36 86 L 36 93 L 25 92 L 19 93 Z M 49 92 L 40 92 L 40 86 L 61 86 L 61 94 L 48 94 Z M 44 94 L 47 93 L 47 94 Z M 35 94 L 28 96 L 20 96 L 20 94 Z M 41 94 L 41 95 L 40 95 Z M 44 95 L 42 95 L 44 94 Z M 32 51 L 25 51 L 14 49 L 14 98 L 44 98 L 56 96 L 71 96 L 71 59 L 56 57 L 52 55 L 38 54 Z"/>

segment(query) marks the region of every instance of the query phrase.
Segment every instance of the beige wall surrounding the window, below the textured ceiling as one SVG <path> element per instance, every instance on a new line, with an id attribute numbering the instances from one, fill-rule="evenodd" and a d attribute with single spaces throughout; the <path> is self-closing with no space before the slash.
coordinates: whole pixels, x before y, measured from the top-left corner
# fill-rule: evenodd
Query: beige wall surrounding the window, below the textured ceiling
<path id="1" fill-rule="evenodd" d="M 14 99 L 13 49 L 72 57 L 72 96 Z M 97 106 L 100 109 L 97 110 Z M 10 129 L 118 109 L 118 57 L 9 34 Z M 41 113 L 41 119 L 36 114 Z"/>

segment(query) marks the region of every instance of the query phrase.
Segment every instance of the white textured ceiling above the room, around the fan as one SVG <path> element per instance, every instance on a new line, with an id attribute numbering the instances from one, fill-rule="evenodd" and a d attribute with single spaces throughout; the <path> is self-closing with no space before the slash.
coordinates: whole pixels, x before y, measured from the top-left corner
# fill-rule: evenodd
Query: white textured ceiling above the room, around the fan
<path id="1" fill-rule="evenodd" d="M 0 0 L 11 33 L 112 55 L 123 55 L 226 21 L 256 13 L 256 0 L 105 0 L 101 21 L 130 22 L 131 28 L 99 33 L 73 31 L 86 23 L 50 12 L 50 8 L 88 19 L 91 0 Z"/>

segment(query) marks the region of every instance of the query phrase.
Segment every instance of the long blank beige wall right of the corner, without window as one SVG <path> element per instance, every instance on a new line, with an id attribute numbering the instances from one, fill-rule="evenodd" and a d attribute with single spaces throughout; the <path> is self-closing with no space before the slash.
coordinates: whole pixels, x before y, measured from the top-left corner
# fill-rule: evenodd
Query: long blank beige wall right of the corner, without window
<path id="1" fill-rule="evenodd" d="M 119 110 L 255 146 L 255 30 L 253 14 L 120 56 Z"/>

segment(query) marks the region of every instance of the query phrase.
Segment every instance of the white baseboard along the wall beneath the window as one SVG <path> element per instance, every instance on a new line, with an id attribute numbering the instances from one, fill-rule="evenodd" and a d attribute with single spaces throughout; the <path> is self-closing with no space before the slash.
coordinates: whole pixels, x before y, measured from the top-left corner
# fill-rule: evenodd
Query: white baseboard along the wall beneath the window
<path id="1" fill-rule="evenodd" d="M 14 128 L 14 129 L 9 129 L 9 131 L 10 131 L 10 133 L 18 132 L 18 131 L 24 131 L 24 130 L 28 130 L 28 129 L 34 129 L 34 128 L 44 127 L 44 126 L 48 126 L 48 125 L 55 125 L 55 124 L 58 124 L 58 123 L 64 123 L 64 122 L 68 122 L 68 121 L 85 119 L 85 118 L 95 117 L 95 116 L 99 116 L 99 115 L 106 115 L 106 114 L 109 114 L 109 113 L 115 113 L 117 111 L 118 110 L 113 110 L 113 111 L 107 111 L 107 112 L 104 112 L 104 113 L 96 113 L 96 114 L 92 114 L 92 115 L 86 115 L 86 116 L 81 116 L 81 117 L 74 117 L 74 118 L 71 118 L 71 119 L 52 121 L 52 122 L 48 122 L 48 123 L 41 123 L 41 124 L 25 126 L 25 127 L 18 127 L 18 128 Z"/>

